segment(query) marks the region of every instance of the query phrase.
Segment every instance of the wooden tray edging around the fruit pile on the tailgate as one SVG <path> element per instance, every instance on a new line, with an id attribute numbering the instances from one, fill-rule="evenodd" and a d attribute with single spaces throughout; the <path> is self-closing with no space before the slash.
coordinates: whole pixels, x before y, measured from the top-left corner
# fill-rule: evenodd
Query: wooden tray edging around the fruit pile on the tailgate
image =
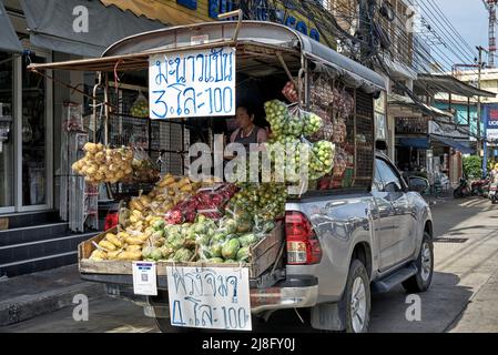
<path id="1" fill-rule="evenodd" d="M 95 237 L 83 242 L 79 245 L 79 266 L 83 274 L 106 274 L 106 275 L 131 275 L 132 262 L 126 261 L 91 261 L 89 260 L 95 246 L 92 242 L 99 243 L 105 237 L 106 233 L 116 233 L 116 229 L 110 230 L 105 233 L 99 234 Z M 283 223 L 278 222 L 275 230 L 270 233 L 264 240 L 251 248 L 252 262 L 250 264 L 242 264 L 243 267 L 250 268 L 250 277 L 256 278 L 268 270 L 278 257 L 281 248 L 284 243 Z M 212 264 L 207 262 L 195 263 L 173 263 L 159 262 L 157 275 L 166 276 L 167 266 L 186 266 L 186 267 L 241 267 L 241 264 Z"/>

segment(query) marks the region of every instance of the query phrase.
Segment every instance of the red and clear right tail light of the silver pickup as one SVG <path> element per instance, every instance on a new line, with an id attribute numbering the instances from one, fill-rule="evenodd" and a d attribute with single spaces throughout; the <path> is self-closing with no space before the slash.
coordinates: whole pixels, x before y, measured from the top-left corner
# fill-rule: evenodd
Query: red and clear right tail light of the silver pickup
<path id="1" fill-rule="evenodd" d="M 313 265 L 322 261 L 322 246 L 307 217 L 301 212 L 285 215 L 287 264 Z"/>

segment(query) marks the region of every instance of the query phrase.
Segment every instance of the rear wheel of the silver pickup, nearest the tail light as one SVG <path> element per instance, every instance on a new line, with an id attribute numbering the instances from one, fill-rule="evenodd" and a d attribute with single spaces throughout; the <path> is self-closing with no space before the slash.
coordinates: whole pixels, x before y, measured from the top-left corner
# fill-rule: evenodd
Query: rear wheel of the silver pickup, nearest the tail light
<path id="1" fill-rule="evenodd" d="M 344 293 L 346 333 L 366 333 L 370 323 L 370 282 L 365 265 L 354 260 Z"/>

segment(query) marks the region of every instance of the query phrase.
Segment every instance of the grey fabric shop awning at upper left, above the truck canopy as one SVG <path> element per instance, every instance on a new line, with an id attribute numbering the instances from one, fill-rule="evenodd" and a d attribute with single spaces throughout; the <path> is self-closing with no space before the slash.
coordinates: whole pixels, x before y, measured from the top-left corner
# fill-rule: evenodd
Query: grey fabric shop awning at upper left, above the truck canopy
<path id="1" fill-rule="evenodd" d="M 21 6 L 31 43 L 82 57 L 101 57 L 105 48 L 122 38 L 164 28 L 129 11 L 106 8 L 100 1 L 21 0 Z"/>

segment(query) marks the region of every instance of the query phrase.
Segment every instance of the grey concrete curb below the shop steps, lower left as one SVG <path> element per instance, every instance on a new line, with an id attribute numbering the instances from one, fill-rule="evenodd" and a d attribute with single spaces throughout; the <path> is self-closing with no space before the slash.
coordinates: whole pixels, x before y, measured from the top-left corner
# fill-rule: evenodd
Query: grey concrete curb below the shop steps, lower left
<path id="1" fill-rule="evenodd" d="M 0 303 L 0 326 L 24 322 L 37 316 L 73 306 L 78 294 L 89 300 L 105 295 L 102 284 L 80 283 L 34 295 L 26 295 Z"/>

